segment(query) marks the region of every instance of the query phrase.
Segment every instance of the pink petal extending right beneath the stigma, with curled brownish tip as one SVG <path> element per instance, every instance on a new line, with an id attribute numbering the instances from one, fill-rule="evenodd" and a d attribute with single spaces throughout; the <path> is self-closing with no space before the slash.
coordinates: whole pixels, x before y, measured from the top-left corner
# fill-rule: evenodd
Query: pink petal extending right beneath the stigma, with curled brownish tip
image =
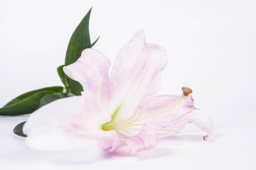
<path id="1" fill-rule="evenodd" d="M 157 137 L 164 137 L 170 134 L 176 134 L 181 131 L 187 123 L 194 123 L 202 130 L 208 133 L 204 136 L 204 140 L 213 132 L 212 120 L 209 116 L 203 114 L 201 110 L 194 107 L 193 98 L 191 95 L 186 96 L 181 102 L 174 105 L 168 111 L 161 113 L 155 117 L 145 119 L 146 117 L 163 110 L 171 105 L 180 96 L 178 95 L 161 95 L 156 96 L 153 102 L 142 114 L 141 120 L 143 123 L 153 125 Z M 158 130 L 157 130 L 158 129 Z"/>

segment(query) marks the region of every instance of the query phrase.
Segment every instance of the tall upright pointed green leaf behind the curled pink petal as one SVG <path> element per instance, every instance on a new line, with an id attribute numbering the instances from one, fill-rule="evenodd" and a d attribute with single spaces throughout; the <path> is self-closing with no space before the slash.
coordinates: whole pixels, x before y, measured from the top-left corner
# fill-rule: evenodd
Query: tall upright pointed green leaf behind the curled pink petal
<path id="1" fill-rule="evenodd" d="M 91 9 L 83 17 L 81 23 L 76 27 L 72 34 L 65 58 L 65 66 L 74 63 L 80 56 L 84 49 L 91 48 L 91 40 L 89 34 L 89 20 L 91 15 Z M 70 90 L 75 95 L 81 95 L 82 85 L 77 81 L 72 80 L 66 76 L 66 80 Z"/>

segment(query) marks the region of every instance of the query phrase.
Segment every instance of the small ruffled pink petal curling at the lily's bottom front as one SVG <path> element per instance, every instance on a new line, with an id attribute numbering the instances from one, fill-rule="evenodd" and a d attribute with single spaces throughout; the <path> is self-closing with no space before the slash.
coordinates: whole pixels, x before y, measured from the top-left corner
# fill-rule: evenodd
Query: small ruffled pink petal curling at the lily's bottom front
<path id="1" fill-rule="evenodd" d="M 126 143 L 130 148 L 130 153 L 135 154 L 140 151 L 153 148 L 157 144 L 154 130 L 146 124 L 135 136 L 128 136 L 119 132 L 119 137 L 119 140 L 115 140 L 112 146 L 105 148 L 104 151 L 113 152 L 119 145 Z"/>

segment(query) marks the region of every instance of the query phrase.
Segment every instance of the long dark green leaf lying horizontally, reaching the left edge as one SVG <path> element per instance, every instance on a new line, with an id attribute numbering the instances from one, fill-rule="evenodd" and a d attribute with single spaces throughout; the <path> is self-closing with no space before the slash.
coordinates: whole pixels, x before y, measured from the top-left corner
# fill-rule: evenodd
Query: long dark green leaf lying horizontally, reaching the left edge
<path id="1" fill-rule="evenodd" d="M 32 113 L 38 109 L 40 100 L 44 96 L 60 94 L 63 89 L 63 87 L 55 86 L 24 93 L 0 108 L 0 115 L 15 116 Z"/>

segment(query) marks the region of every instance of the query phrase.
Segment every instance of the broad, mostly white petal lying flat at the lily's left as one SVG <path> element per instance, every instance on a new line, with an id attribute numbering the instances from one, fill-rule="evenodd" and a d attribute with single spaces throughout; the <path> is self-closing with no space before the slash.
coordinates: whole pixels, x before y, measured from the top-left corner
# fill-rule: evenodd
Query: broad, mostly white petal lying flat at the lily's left
<path id="1" fill-rule="evenodd" d="M 35 111 L 23 127 L 27 145 L 38 150 L 72 150 L 91 144 L 109 147 L 117 140 L 116 131 L 103 131 L 110 121 L 102 112 L 95 95 L 87 92 L 57 100 Z"/>

